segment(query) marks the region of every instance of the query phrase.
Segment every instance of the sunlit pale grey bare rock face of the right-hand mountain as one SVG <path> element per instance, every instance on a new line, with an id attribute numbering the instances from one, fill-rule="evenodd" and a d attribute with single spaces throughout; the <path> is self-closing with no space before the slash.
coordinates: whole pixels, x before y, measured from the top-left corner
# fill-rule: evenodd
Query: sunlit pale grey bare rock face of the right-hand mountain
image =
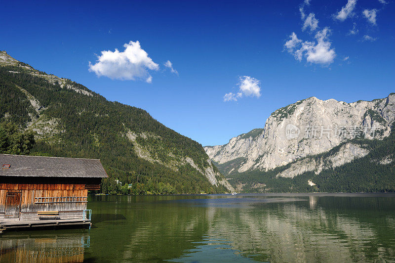
<path id="1" fill-rule="evenodd" d="M 205 146 L 204 149 L 218 164 L 245 158 L 235 168 L 240 173 L 268 171 L 329 151 L 351 138 L 383 139 L 389 136 L 394 120 L 395 93 L 383 99 L 353 103 L 310 97 L 276 110 L 266 120 L 264 129 L 255 129 L 230 139 L 225 145 Z M 340 155 L 331 158 L 331 167 L 368 153 L 352 144 L 341 150 Z M 303 164 L 300 165 L 302 169 Z M 308 171 L 325 168 L 317 164 Z M 296 172 L 292 176 L 304 172 L 298 169 L 293 167 Z"/>

